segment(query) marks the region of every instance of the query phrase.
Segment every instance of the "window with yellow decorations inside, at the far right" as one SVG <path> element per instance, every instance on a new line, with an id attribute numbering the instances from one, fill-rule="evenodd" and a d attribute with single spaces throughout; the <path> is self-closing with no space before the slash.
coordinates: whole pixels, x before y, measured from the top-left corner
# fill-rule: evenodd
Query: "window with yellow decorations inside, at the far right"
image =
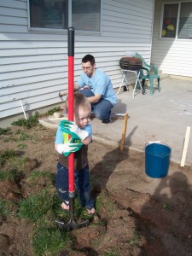
<path id="1" fill-rule="evenodd" d="M 192 39 L 192 3 L 165 3 L 161 38 Z"/>

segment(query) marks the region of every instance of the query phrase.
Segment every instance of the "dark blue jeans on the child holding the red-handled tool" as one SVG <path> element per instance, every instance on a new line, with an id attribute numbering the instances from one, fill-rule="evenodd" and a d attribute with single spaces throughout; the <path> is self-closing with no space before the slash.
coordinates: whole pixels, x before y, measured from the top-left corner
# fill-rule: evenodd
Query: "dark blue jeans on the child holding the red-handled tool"
<path id="1" fill-rule="evenodd" d="M 90 195 L 90 173 L 89 166 L 74 171 L 74 182 L 78 192 L 79 203 L 82 207 L 94 207 L 94 201 Z M 68 169 L 57 164 L 56 190 L 61 201 L 68 201 Z"/>

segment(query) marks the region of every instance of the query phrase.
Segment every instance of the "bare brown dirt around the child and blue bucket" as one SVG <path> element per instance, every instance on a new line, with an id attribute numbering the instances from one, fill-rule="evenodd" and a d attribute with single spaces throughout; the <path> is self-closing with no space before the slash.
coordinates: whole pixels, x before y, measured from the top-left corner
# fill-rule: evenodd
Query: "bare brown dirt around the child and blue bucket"
<path id="1" fill-rule="evenodd" d="M 1 136 L 0 150 L 14 149 L 26 156 L 26 174 L 34 168 L 55 174 L 55 131 L 41 125 L 30 130 L 12 127 L 11 131 L 16 130 L 34 139 L 20 149 L 20 143 Z M 93 195 L 103 195 L 106 204 L 110 198 L 115 207 L 111 212 L 101 207 L 88 227 L 73 230 L 73 252 L 60 255 L 192 255 L 191 166 L 172 163 L 167 177 L 153 179 L 144 172 L 144 153 L 129 148 L 120 151 L 96 141 L 89 147 L 89 160 Z M 39 180 L 35 189 L 48 183 Z M 16 203 L 32 194 L 32 188 L 25 177 L 20 182 L 2 181 L 0 196 Z M 103 225 L 97 225 L 101 220 Z M 33 255 L 32 229 L 26 219 L 0 217 L 0 254 Z"/>

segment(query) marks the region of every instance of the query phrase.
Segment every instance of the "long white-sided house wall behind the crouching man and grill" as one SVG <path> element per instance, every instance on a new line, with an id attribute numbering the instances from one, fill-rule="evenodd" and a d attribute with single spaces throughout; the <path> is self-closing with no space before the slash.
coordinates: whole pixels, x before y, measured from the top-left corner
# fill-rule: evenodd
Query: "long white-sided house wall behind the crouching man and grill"
<path id="1" fill-rule="evenodd" d="M 154 0 L 103 0 L 102 33 L 75 32 L 74 81 L 86 54 L 108 73 L 113 87 L 122 77 L 126 51 L 151 51 Z M 60 102 L 67 89 L 67 32 L 28 32 L 26 0 L 0 1 L 0 119 Z M 131 83 L 135 80 L 131 77 Z"/>

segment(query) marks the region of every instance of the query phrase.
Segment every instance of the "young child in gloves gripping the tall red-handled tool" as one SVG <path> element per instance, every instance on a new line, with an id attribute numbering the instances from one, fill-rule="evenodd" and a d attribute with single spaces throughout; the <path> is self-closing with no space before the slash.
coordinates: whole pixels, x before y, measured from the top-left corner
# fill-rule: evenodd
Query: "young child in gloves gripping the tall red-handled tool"
<path id="1" fill-rule="evenodd" d="M 66 102 L 66 110 L 68 102 Z M 59 153 L 57 164 L 56 189 L 62 203 L 63 210 L 69 210 L 68 201 L 68 158 L 74 152 L 74 182 L 78 192 L 79 202 L 87 209 L 89 214 L 96 212 L 94 201 L 90 195 L 90 178 L 88 165 L 88 145 L 92 142 L 92 128 L 89 125 L 91 106 L 86 97 L 79 93 L 74 93 L 74 122 L 68 122 L 67 133 L 61 131 L 58 126 L 55 137 L 55 150 Z M 72 143 L 73 138 L 68 140 L 68 133 L 80 138 L 81 143 Z M 79 146 L 80 145 L 80 146 Z M 81 147 L 82 146 L 82 147 Z M 66 156 L 65 156 L 66 155 Z"/>

